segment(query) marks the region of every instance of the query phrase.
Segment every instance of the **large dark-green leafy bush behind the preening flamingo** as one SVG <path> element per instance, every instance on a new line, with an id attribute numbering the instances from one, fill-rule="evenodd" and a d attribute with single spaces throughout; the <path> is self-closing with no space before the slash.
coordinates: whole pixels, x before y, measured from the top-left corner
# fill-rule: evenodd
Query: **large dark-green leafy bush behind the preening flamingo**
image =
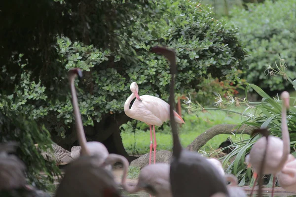
<path id="1" fill-rule="evenodd" d="M 245 66 L 245 52 L 237 40 L 236 29 L 224 28 L 222 22 L 212 18 L 210 8 L 197 5 L 187 0 L 163 0 L 157 4 L 163 10 L 162 17 L 147 20 L 145 16 L 139 16 L 133 26 L 116 30 L 120 42 L 129 44 L 132 50 L 119 46 L 112 52 L 68 37 L 58 37 L 59 60 L 65 68 L 80 67 L 90 71 L 84 72 L 78 85 L 81 88 L 78 89 L 79 107 L 85 126 L 122 114 L 132 81 L 139 84 L 140 95 L 168 98 L 169 65 L 164 58 L 149 52 L 152 45 L 176 49 L 178 93 L 198 90 L 198 84 L 208 76 L 222 80 L 236 77 L 237 70 Z M 162 26 L 157 26 L 159 22 Z M 29 76 L 22 74 L 23 85 L 17 87 L 16 101 L 10 110 L 30 114 L 39 123 L 44 123 L 52 135 L 64 137 L 71 133 L 70 98 L 49 102 L 44 95 L 46 89 L 30 81 Z"/>

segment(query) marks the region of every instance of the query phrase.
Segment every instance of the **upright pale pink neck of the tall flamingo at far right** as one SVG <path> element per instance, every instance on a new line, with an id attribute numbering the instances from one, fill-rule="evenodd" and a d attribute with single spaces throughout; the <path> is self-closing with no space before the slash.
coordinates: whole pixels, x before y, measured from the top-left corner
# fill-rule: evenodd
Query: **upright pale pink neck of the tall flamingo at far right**
<path id="1" fill-rule="evenodd" d="M 284 103 L 284 101 L 283 101 Z M 281 161 L 278 165 L 278 169 L 281 170 L 285 165 L 286 161 L 288 160 L 290 154 L 290 136 L 287 124 L 287 108 L 283 104 L 282 107 L 282 140 L 283 140 L 283 155 L 281 157 Z"/>

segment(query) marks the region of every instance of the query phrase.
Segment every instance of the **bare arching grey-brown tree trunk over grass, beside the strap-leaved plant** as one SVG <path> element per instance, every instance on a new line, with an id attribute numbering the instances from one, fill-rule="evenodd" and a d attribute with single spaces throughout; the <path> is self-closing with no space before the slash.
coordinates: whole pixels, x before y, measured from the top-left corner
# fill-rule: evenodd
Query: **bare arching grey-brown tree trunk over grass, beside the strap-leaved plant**
<path id="1" fill-rule="evenodd" d="M 256 129 L 254 126 L 243 125 L 239 130 L 235 130 L 237 125 L 216 125 L 207 131 L 198 135 L 191 144 L 186 148 L 190 151 L 198 151 L 202 146 L 204 146 L 210 139 L 219 134 L 251 134 L 251 132 Z"/>

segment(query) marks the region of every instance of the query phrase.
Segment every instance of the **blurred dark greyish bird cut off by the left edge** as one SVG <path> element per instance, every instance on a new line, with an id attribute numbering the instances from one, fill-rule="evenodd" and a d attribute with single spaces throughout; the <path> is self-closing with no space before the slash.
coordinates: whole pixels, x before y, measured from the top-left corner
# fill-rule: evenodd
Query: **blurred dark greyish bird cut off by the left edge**
<path id="1" fill-rule="evenodd" d="M 14 155 L 17 142 L 6 142 L 0 144 L 0 191 L 14 190 L 26 186 L 24 170 L 25 164 Z"/>

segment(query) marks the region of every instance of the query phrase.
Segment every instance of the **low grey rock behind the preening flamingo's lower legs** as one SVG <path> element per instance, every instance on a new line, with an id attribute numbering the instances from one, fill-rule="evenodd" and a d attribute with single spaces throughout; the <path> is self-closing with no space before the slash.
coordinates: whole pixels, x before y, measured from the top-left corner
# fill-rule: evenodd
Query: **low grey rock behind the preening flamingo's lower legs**
<path id="1" fill-rule="evenodd" d="M 155 163 L 171 163 L 172 152 L 166 150 L 156 151 L 156 160 Z M 151 156 L 151 164 L 153 164 L 153 151 Z M 132 161 L 131 166 L 140 167 L 142 169 L 144 166 L 149 164 L 149 153 L 142 155 L 138 159 Z"/>

